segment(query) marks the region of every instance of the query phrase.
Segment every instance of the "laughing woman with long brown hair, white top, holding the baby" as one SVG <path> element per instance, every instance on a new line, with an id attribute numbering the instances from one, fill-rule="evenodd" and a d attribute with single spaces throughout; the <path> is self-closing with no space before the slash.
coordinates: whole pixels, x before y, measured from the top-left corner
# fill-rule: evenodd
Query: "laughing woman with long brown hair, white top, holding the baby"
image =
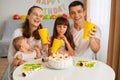
<path id="1" fill-rule="evenodd" d="M 15 32 L 13 33 L 9 50 L 8 50 L 8 61 L 9 61 L 8 70 L 10 70 L 8 71 L 8 73 L 10 73 L 8 74 L 8 78 L 11 77 L 11 69 L 12 69 L 11 64 L 13 61 L 13 56 L 16 52 L 12 44 L 14 38 L 18 36 L 26 37 L 30 42 L 31 48 L 33 48 L 37 44 L 39 45 L 39 48 L 42 52 L 45 51 L 46 47 L 41 44 L 40 36 L 38 33 L 38 29 L 42 28 L 42 25 L 41 25 L 42 17 L 43 17 L 43 9 L 39 6 L 32 6 L 28 10 L 26 20 L 23 23 L 22 27 L 16 29 Z"/>

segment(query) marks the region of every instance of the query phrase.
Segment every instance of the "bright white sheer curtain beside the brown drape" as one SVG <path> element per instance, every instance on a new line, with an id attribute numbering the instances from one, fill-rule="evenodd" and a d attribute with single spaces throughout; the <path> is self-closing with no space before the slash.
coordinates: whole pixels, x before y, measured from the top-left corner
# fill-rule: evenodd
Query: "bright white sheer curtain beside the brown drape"
<path id="1" fill-rule="evenodd" d="M 96 23 L 102 30 L 101 49 L 97 55 L 103 62 L 106 62 L 107 58 L 110 8 L 111 0 L 90 0 L 91 22 Z"/>

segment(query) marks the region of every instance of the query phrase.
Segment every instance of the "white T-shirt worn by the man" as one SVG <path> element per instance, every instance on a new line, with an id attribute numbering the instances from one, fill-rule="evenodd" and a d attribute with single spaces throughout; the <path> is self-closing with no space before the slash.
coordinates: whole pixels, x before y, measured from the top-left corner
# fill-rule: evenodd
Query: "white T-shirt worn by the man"
<path id="1" fill-rule="evenodd" d="M 74 38 L 75 42 L 75 56 L 81 56 L 83 58 L 87 59 L 93 59 L 94 58 L 94 52 L 90 48 L 89 40 L 83 39 L 83 32 L 84 28 L 82 28 L 80 31 L 77 31 L 74 28 L 74 25 L 71 25 L 71 33 Z M 97 33 L 96 38 L 100 39 L 101 37 L 101 31 L 97 27 Z"/>

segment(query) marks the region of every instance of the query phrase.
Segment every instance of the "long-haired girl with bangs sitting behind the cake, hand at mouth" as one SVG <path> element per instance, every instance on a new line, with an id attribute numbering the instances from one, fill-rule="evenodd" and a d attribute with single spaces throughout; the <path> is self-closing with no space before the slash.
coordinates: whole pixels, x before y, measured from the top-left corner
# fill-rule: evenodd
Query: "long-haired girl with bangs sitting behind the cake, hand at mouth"
<path id="1" fill-rule="evenodd" d="M 52 46 L 53 40 L 55 38 L 60 39 L 62 41 L 62 46 L 58 49 L 59 52 L 67 52 L 70 55 L 74 55 L 75 44 L 73 41 L 73 36 L 70 33 L 70 25 L 66 15 L 58 17 L 55 20 L 50 47 Z"/>

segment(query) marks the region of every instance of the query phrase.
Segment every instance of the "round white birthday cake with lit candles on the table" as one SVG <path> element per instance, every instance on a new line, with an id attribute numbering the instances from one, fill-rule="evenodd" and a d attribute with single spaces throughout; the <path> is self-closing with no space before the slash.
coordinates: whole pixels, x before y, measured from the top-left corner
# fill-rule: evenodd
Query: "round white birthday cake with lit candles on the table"
<path id="1" fill-rule="evenodd" d="M 49 56 L 48 65 L 54 69 L 65 69 L 73 65 L 73 59 L 68 54 L 54 54 Z"/>

